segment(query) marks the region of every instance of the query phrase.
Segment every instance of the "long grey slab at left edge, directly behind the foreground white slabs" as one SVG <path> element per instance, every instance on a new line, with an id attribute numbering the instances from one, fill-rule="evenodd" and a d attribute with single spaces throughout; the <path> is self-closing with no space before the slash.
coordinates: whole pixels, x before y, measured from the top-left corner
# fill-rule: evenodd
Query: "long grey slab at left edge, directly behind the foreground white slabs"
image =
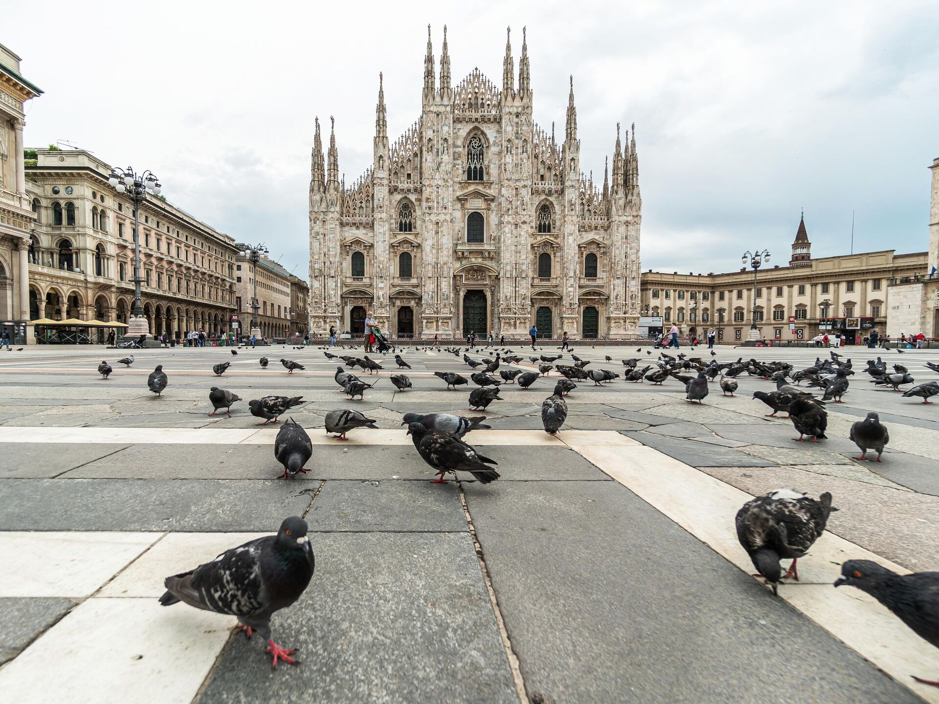
<path id="1" fill-rule="evenodd" d="M 0 530 L 266 531 L 271 516 L 303 513 L 318 486 L 303 480 L 0 480 Z"/>

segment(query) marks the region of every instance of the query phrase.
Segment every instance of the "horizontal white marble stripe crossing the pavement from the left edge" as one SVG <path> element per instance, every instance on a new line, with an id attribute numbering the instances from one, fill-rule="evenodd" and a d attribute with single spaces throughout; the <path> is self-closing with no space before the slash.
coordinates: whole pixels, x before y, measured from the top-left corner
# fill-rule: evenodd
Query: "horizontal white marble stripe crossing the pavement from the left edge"
<path id="1" fill-rule="evenodd" d="M 279 430 L 265 428 L 68 428 L 0 427 L 0 443 L 131 443 L 136 445 L 273 445 Z M 348 440 L 335 440 L 323 428 L 308 428 L 314 445 L 410 445 L 404 428 L 400 430 L 360 428 Z M 572 431 L 574 432 L 574 431 Z M 584 431 L 591 432 L 591 431 Z M 607 432 L 607 431 L 599 431 Z M 475 430 L 473 445 L 548 445 L 563 447 L 561 439 L 542 430 Z"/>

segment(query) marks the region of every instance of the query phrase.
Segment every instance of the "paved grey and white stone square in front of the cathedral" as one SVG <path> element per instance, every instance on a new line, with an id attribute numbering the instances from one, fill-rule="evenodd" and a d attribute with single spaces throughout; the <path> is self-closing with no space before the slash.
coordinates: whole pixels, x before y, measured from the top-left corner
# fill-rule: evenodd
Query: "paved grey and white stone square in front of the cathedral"
<path id="1" fill-rule="evenodd" d="M 575 346 L 589 368 L 619 371 L 636 356 Z M 471 383 L 447 391 L 432 374 L 469 377 L 445 352 L 409 349 L 404 392 L 386 356 L 362 402 L 344 400 L 336 362 L 316 346 L 147 349 L 130 369 L 115 352 L 0 352 L 8 701 L 939 702 L 910 677 L 939 677 L 936 650 L 860 590 L 832 587 L 845 559 L 939 569 L 939 404 L 875 389 L 861 372 L 872 350 L 842 350 L 857 374 L 818 444 L 765 418 L 751 396 L 772 384 L 746 373 L 736 397 L 712 383 L 701 406 L 671 379 L 580 382 L 555 437 L 540 406 L 557 373 L 530 390 L 505 385 L 485 412 L 492 429 L 466 437 L 499 463 L 501 479 L 485 485 L 462 473 L 429 482 L 400 424 L 408 411 L 476 415 Z M 828 351 L 724 346 L 717 360 L 801 368 L 816 353 Z M 939 376 L 924 366 L 939 351 L 879 354 L 917 382 Z M 281 357 L 306 371 L 287 375 Z M 102 359 L 115 367 L 108 380 Z M 211 367 L 223 360 L 233 364 L 219 379 Z M 146 389 L 158 363 L 162 398 Z M 230 418 L 208 417 L 211 386 L 245 399 Z M 248 399 L 272 393 L 307 401 L 290 414 L 315 443 L 299 479 L 276 479 L 277 426 L 248 412 Z M 331 439 L 323 418 L 341 407 L 379 429 Z M 869 410 L 890 432 L 881 464 L 852 459 L 849 426 Z M 775 598 L 750 575 L 733 519 L 751 495 L 790 486 L 830 491 L 839 512 L 800 560 L 801 581 L 784 580 Z M 236 634 L 233 618 L 158 603 L 165 576 L 288 515 L 306 518 L 316 552 L 310 587 L 272 620 L 299 666 L 272 671 L 265 644 Z"/>

